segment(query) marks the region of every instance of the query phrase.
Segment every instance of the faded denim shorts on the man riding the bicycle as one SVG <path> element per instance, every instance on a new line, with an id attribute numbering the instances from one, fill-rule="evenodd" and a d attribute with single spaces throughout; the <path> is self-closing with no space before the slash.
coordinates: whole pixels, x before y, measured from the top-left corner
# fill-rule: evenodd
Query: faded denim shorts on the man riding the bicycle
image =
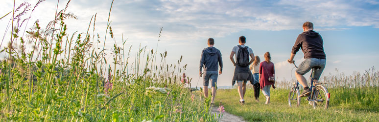
<path id="1" fill-rule="evenodd" d="M 305 59 L 299 65 L 299 67 L 296 69 L 296 72 L 298 74 L 300 74 L 300 75 L 304 75 L 304 74 L 308 73 L 312 69 L 312 67 L 320 66 L 321 69 L 316 70 L 314 72 L 314 78 L 313 78 L 315 80 L 319 80 L 322 71 L 324 71 L 325 64 L 326 64 L 326 60 L 324 60 L 324 59 L 314 59 L 314 58 L 312 58 L 312 59 Z M 310 74 L 310 75 L 312 75 L 312 74 Z M 312 76 L 310 76 L 310 77 L 312 77 Z"/>

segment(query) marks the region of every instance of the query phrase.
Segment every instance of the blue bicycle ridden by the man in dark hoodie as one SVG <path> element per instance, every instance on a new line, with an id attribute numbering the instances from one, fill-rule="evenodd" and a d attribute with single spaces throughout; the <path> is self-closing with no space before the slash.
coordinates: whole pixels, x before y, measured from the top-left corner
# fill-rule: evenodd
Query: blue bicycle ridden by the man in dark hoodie
<path id="1" fill-rule="evenodd" d="M 296 68 L 298 68 L 295 62 L 293 62 L 293 64 L 295 65 Z M 328 92 L 328 89 L 322 85 L 326 83 L 314 83 L 313 85 L 314 71 L 319 70 L 320 68 L 321 67 L 319 66 L 312 67 L 312 75 L 311 75 L 310 87 L 309 87 L 310 91 L 312 92 L 310 93 L 306 101 L 308 101 L 309 104 L 311 104 L 314 109 L 316 108 L 328 109 L 331 94 Z M 293 82 L 293 87 L 289 91 L 288 104 L 290 107 L 292 107 L 293 103 L 295 103 L 296 106 L 300 106 L 301 98 L 299 97 L 300 95 L 299 84 L 300 84 L 299 81 Z M 302 85 L 300 84 L 300 86 Z"/>

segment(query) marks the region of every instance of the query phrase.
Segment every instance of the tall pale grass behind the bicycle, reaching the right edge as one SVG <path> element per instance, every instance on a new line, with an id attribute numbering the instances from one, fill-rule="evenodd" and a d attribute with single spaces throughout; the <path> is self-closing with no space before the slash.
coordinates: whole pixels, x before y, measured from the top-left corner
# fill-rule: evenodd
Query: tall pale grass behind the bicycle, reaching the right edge
<path id="1" fill-rule="evenodd" d="M 339 72 L 337 75 L 329 74 L 320 81 L 326 83 L 323 85 L 331 93 L 331 105 L 360 110 L 379 110 L 379 71 L 374 67 L 364 73 L 354 72 L 352 75 Z M 294 81 L 278 81 L 276 86 L 289 89 L 292 87 L 292 82 Z"/>

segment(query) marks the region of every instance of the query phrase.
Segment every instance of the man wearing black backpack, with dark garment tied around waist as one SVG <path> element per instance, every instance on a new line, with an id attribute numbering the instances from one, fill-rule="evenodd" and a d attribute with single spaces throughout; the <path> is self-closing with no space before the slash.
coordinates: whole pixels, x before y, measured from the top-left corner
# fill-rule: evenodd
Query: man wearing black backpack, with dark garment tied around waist
<path id="1" fill-rule="evenodd" d="M 239 94 L 239 103 L 245 104 L 243 97 L 246 92 L 246 83 L 247 81 L 253 81 L 253 74 L 251 74 L 249 65 L 255 60 L 253 50 L 245 46 L 246 38 L 240 36 L 238 40 L 239 45 L 233 47 L 232 53 L 230 54 L 230 60 L 233 65 L 236 66 L 234 70 L 234 76 L 232 81 L 232 86 L 236 83 L 238 84 L 238 94 Z M 234 55 L 236 54 L 236 61 L 234 60 Z M 249 56 L 251 60 L 249 60 Z"/>

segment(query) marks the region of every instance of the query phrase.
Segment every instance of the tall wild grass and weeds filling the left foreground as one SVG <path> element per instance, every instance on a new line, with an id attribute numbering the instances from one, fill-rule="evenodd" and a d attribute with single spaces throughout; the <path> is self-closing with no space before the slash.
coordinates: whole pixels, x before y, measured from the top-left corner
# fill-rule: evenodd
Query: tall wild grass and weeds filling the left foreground
<path id="1" fill-rule="evenodd" d="M 70 36 L 64 21 L 76 16 L 65 13 L 69 3 L 56 11 L 45 30 L 36 21 L 25 37 L 19 36 L 25 20 L 19 20 L 31 7 L 25 2 L 14 11 L 24 8 L 10 20 L 17 24 L 1 51 L 5 58 L 0 61 L 0 122 L 217 121 L 209 100 L 194 97 L 191 79 L 181 75 L 187 67 L 180 67 L 182 57 L 177 64 L 166 64 L 167 52 L 159 57 L 140 45 L 129 63 L 131 47 L 125 51 L 123 39 L 121 45 L 116 43 L 109 19 L 103 43 L 109 42 L 108 35 L 114 46 L 111 52 L 95 47 L 101 38 L 89 30 L 95 30 L 96 15 L 87 32 Z"/>

